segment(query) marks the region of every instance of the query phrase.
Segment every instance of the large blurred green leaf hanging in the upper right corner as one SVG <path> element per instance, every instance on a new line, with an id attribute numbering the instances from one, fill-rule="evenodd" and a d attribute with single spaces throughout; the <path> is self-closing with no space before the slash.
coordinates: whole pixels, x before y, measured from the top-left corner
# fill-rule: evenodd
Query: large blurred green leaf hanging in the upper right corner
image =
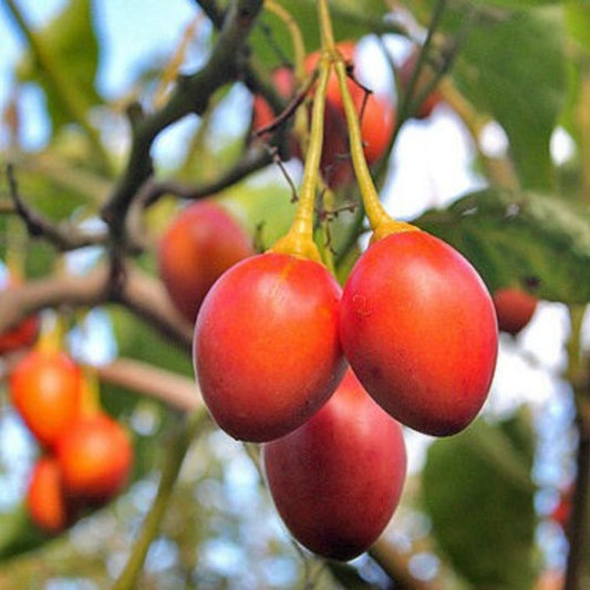
<path id="1" fill-rule="evenodd" d="M 463 8 L 452 13 L 447 30 L 457 32 L 464 14 Z M 562 9 L 475 11 L 473 19 L 453 76 L 505 130 L 522 186 L 547 189 L 553 182 L 549 142 L 566 92 Z"/>

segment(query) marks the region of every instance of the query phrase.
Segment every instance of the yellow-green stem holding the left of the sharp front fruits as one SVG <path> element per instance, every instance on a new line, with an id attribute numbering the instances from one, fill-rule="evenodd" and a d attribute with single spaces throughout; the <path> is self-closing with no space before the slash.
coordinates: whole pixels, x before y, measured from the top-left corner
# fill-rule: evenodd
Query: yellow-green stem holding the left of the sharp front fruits
<path id="1" fill-rule="evenodd" d="M 269 250 L 321 261 L 320 251 L 313 241 L 313 208 L 319 180 L 320 158 L 323 144 L 323 113 L 325 89 L 331 71 L 330 59 L 322 54 L 319 63 L 320 80 L 313 100 L 309 149 L 303 168 L 299 205 L 289 231 Z"/>

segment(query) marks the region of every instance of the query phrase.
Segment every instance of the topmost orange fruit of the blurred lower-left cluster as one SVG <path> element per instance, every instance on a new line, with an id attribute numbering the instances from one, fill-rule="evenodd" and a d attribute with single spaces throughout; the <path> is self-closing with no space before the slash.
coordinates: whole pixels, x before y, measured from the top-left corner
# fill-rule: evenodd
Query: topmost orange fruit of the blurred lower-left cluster
<path id="1" fill-rule="evenodd" d="M 61 351 L 31 350 L 14 365 L 9 377 L 12 404 L 46 447 L 77 416 L 82 373 Z"/>

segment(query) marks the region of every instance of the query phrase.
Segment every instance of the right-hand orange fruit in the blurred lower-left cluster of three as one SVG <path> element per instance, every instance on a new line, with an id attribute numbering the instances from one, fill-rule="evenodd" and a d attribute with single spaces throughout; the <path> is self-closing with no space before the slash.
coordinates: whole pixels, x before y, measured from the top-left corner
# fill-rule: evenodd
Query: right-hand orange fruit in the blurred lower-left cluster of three
<path id="1" fill-rule="evenodd" d="M 133 466 L 126 432 L 103 413 L 72 423 L 59 438 L 55 454 L 68 497 L 96 505 L 125 487 Z"/>

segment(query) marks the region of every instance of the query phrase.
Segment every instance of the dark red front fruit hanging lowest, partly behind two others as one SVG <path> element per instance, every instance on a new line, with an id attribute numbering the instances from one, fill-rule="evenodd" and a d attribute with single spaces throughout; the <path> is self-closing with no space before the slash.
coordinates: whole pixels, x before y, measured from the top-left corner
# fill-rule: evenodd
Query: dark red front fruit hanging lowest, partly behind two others
<path id="1" fill-rule="evenodd" d="M 268 487 L 293 537 L 320 556 L 349 560 L 390 521 L 406 472 L 400 424 L 349 370 L 306 424 L 262 445 Z"/>

